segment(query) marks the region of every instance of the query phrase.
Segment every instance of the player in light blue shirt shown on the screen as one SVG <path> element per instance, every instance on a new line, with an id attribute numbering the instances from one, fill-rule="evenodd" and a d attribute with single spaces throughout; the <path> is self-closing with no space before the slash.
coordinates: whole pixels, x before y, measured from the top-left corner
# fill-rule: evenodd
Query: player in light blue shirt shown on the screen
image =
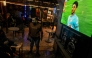
<path id="1" fill-rule="evenodd" d="M 71 15 L 69 15 L 68 17 L 67 26 L 73 28 L 74 30 L 79 31 L 78 17 L 75 14 L 77 7 L 78 7 L 78 2 L 75 1 L 72 5 Z"/>

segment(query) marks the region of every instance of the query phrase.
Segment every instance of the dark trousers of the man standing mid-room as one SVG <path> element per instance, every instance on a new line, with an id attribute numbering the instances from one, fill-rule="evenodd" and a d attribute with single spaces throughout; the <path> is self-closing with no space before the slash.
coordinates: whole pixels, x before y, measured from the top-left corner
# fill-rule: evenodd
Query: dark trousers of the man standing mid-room
<path id="1" fill-rule="evenodd" d="M 34 44 L 36 45 L 36 53 L 39 53 L 39 43 L 40 43 L 40 37 L 31 37 L 31 43 L 30 43 L 30 51 L 33 50 Z"/>

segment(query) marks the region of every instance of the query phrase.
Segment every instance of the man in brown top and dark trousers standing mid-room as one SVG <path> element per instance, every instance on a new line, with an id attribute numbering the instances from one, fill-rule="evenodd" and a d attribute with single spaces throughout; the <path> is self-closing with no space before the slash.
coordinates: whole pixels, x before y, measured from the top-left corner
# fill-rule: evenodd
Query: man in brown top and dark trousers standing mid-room
<path id="1" fill-rule="evenodd" d="M 29 36 L 31 37 L 30 53 L 32 53 L 33 46 L 35 43 L 36 56 L 40 56 L 39 43 L 40 43 L 40 39 L 42 39 L 42 34 L 43 32 L 42 32 L 41 24 L 37 22 L 36 18 L 32 18 L 32 22 L 29 24 Z"/>

